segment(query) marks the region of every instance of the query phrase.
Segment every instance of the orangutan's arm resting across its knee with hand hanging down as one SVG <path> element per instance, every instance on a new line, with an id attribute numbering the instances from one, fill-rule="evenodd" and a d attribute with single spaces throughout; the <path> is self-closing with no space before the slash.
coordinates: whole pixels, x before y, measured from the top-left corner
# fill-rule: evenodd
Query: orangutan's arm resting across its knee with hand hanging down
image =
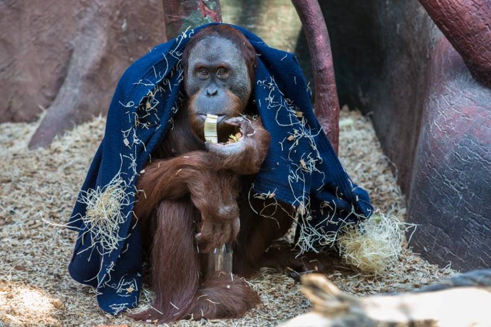
<path id="1" fill-rule="evenodd" d="M 239 233 L 238 176 L 206 151 L 191 151 L 170 159 L 154 160 L 138 179 L 141 190 L 135 204 L 138 219 L 151 218 L 163 200 L 178 200 L 188 194 L 201 213 L 196 240 L 204 251 L 227 243 Z"/>

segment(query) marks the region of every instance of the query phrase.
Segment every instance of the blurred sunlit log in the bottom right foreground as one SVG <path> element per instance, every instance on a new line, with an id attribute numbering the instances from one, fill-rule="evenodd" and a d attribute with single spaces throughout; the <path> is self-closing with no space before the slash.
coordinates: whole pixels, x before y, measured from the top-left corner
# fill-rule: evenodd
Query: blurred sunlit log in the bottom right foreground
<path id="1" fill-rule="evenodd" d="M 491 270 L 479 270 L 417 292 L 356 298 L 324 275 L 304 275 L 302 292 L 313 310 L 280 327 L 489 326 Z"/>

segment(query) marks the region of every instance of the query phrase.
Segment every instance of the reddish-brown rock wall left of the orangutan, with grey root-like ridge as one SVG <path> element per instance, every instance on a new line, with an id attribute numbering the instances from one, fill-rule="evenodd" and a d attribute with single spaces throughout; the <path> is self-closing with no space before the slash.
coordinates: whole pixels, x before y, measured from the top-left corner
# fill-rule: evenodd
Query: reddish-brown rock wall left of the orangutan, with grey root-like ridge
<path id="1" fill-rule="evenodd" d="M 4 0 L 0 13 L 0 123 L 104 113 L 124 70 L 165 40 L 161 0 Z"/>

